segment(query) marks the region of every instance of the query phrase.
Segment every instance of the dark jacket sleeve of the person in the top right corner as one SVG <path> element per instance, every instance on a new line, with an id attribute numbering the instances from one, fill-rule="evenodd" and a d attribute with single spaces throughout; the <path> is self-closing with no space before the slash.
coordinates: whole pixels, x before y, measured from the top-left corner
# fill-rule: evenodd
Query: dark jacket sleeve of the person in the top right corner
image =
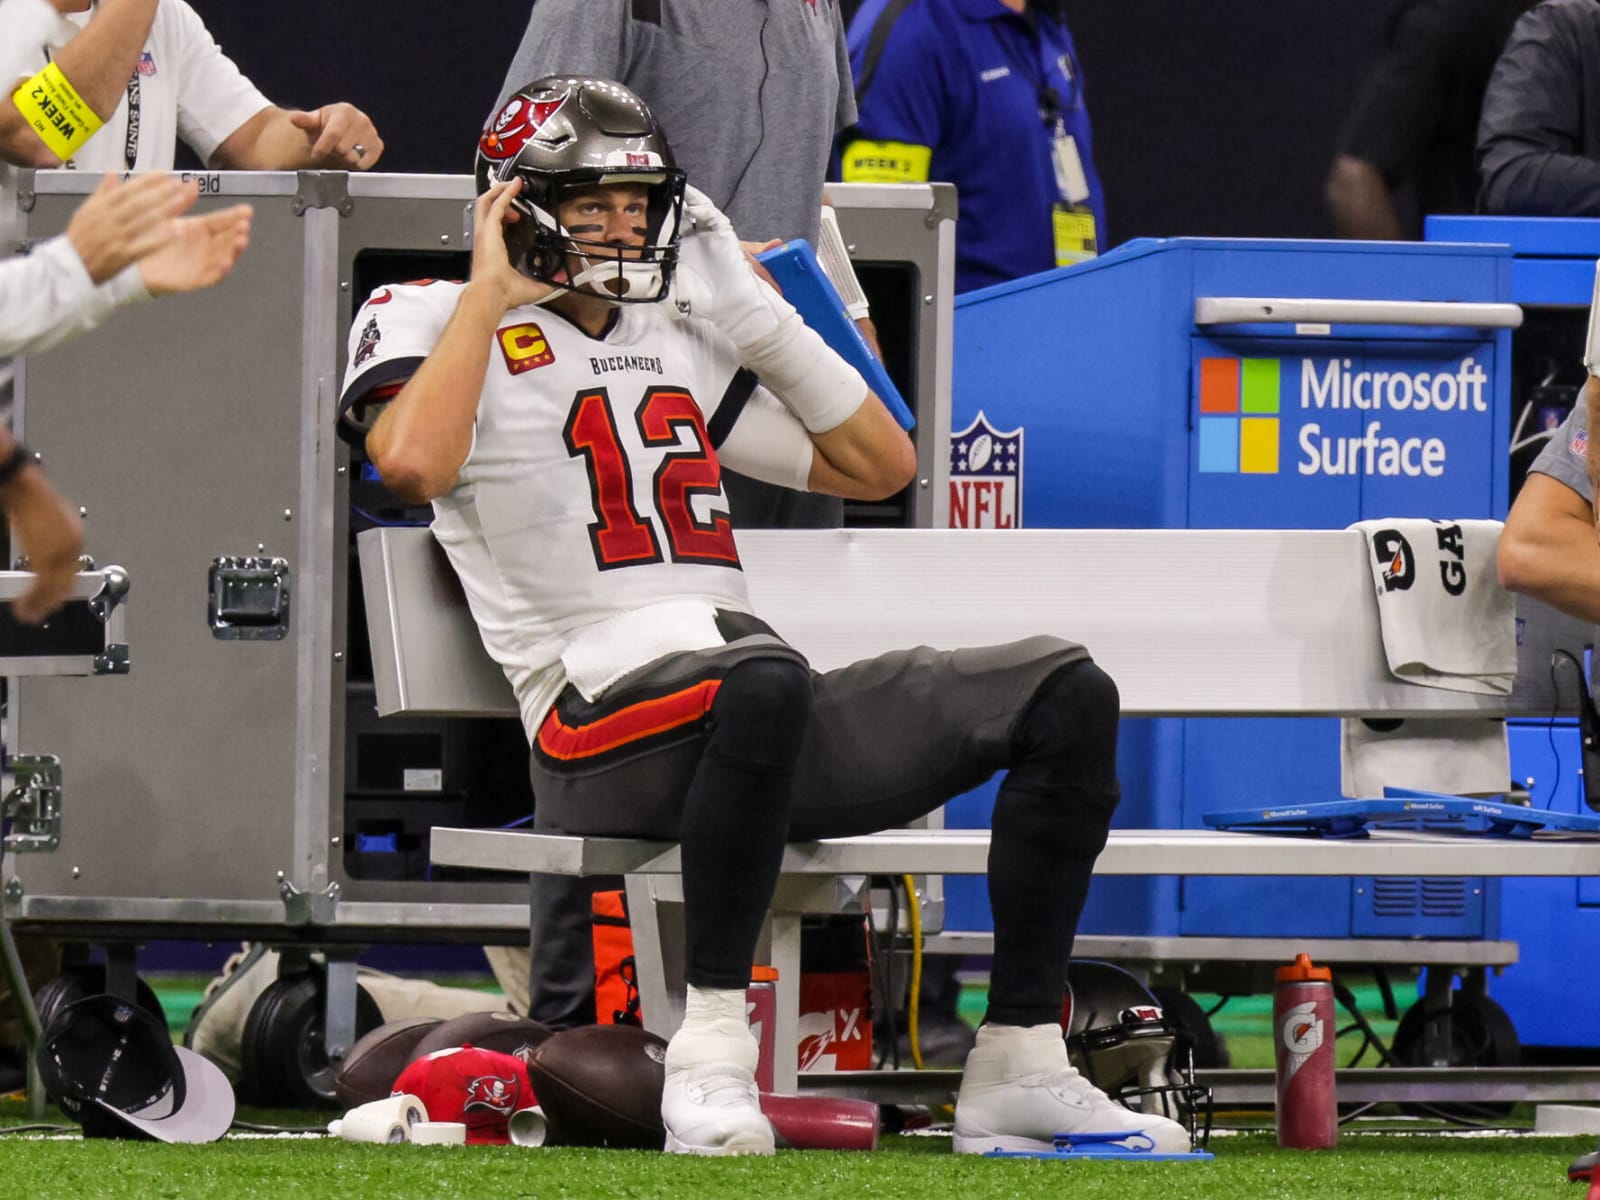
<path id="1" fill-rule="evenodd" d="M 1586 94 L 1595 64 L 1579 61 L 1579 30 L 1544 6 L 1528 11 L 1494 64 L 1478 122 L 1478 179 L 1488 213 L 1600 214 L 1600 162 L 1584 155 Z"/>

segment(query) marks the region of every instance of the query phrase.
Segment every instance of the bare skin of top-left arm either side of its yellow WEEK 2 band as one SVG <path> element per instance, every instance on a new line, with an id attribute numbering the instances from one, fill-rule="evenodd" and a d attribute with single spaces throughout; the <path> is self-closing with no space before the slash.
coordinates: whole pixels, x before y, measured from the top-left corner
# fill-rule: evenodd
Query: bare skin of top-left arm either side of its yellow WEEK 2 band
<path id="1" fill-rule="evenodd" d="M 61 8 L 64 0 L 56 0 Z M 102 0 L 94 18 L 54 62 L 85 104 L 109 120 L 122 102 L 139 61 L 158 0 Z M 61 158 L 34 133 L 11 99 L 16 85 L 0 85 L 0 158 L 19 166 L 61 166 Z"/>

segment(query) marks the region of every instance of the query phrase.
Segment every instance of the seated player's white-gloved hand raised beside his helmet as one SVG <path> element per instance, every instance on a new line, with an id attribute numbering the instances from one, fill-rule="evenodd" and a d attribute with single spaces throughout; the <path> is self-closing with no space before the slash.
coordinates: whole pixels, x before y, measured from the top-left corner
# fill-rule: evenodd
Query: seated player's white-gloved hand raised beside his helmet
<path id="1" fill-rule="evenodd" d="M 794 309 L 757 278 L 728 218 L 698 187 L 683 189 L 683 214 L 693 227 L 672 274 L 677 312 L 704 317 L 741 347 L 778 328 Z"/>

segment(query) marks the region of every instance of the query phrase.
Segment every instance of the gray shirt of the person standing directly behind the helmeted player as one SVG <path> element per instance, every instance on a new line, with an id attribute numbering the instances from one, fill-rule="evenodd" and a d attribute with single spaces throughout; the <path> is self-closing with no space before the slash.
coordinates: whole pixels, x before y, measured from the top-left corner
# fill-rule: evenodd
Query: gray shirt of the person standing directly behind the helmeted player
<path id="1" fill-rule="evenodd" d="M 542 75 L 626 83 L 739 237 L 816 243 L 834 134 L 856 120 L 837 0 L 538 0 L 496 112 Z"/>

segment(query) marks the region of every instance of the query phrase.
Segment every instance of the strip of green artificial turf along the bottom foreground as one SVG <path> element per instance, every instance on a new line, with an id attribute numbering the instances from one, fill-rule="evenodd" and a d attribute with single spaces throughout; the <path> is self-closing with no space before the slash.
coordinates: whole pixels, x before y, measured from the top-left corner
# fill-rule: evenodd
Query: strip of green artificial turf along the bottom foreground
<path id="1" fill-rule="evenodd" d="M 11 1109 L 16 1106 L 13 1104 Z M 10 1110 L 10 1109 L 6 1109 Z M 0 1117 L 0 1128 L 3 1128 Z M 11 1122 L 14 1123 L 14 1122 Z M 1270 1134 L 1219 1138 L 1208 1163 L 998 1162 L 957 1157 L 946 1138 L 886 1138 L 872 1154 L 781 1152 L 691 1160 L 630 1150 L 350 1146 L 336 1139 L 229 1139 L 214 1146 L 0 1138 L 16 1197 L 960 1197 L 1072 1200 L 1458 1200 L 1565 1197 L 1566 1163 L 1586 1138 L 1344 1134 L 1338 1150 L 1278 1150 Z"/>

